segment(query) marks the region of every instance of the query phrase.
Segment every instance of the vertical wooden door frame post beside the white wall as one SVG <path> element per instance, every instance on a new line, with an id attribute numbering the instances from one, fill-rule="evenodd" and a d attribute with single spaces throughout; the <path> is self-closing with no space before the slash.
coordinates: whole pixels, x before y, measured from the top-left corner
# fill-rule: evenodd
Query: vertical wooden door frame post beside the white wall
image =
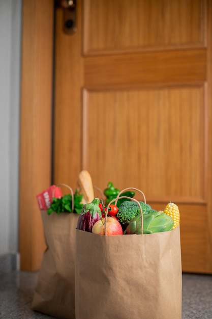
<path id="1" fill-rule="evenodd" d="M 35 271 L 45 249 L 36 195 L 51 182 L 53 1 L 23 0 L 22 17 L 19 251 L 21 270 Z"/>

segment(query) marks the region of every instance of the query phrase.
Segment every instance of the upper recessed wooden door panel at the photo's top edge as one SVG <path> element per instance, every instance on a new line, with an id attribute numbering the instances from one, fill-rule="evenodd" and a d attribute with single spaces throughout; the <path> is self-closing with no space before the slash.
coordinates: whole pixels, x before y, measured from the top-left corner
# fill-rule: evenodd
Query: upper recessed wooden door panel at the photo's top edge
<path id="1" fill-rule="evenodd" d="M 204 0 L 86 0 L 84 54 L 203 46 L 205 19 Z"/>

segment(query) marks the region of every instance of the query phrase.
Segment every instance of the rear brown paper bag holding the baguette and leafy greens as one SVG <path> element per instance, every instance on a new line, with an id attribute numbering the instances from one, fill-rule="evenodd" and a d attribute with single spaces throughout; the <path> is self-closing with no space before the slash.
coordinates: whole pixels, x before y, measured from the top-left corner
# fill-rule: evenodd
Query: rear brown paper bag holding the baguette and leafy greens
<path id="1" fill-rule="evenodd" d="M 32 308 L 64 319 L 75 318 L 75 229 L 79 215 L 41 211 L 47 249 Z"/>

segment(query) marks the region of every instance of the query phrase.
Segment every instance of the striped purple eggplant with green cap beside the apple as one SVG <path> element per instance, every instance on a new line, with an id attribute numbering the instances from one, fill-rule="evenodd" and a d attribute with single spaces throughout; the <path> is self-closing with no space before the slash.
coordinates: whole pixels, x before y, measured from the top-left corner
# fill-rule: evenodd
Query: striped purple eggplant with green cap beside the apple
<path id="1" fill-rule="evenodd" d="M 92 232 L 94 224 L 102 218 L 99 203 L 100 200 L 94 198 L 91 203 L 84 204 L 78 218 L 77 229 Z"/>

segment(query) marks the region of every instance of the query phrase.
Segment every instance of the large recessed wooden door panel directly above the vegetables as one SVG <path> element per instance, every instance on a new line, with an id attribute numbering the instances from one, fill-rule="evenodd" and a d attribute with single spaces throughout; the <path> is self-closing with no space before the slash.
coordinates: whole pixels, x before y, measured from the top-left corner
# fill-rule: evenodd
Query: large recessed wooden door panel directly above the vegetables
<path id="1" fill-rule="evenodd" d="M 203 86 L 86 92 L 83 167 L 101 189 L 205 202 L 205 112 Z"/>

